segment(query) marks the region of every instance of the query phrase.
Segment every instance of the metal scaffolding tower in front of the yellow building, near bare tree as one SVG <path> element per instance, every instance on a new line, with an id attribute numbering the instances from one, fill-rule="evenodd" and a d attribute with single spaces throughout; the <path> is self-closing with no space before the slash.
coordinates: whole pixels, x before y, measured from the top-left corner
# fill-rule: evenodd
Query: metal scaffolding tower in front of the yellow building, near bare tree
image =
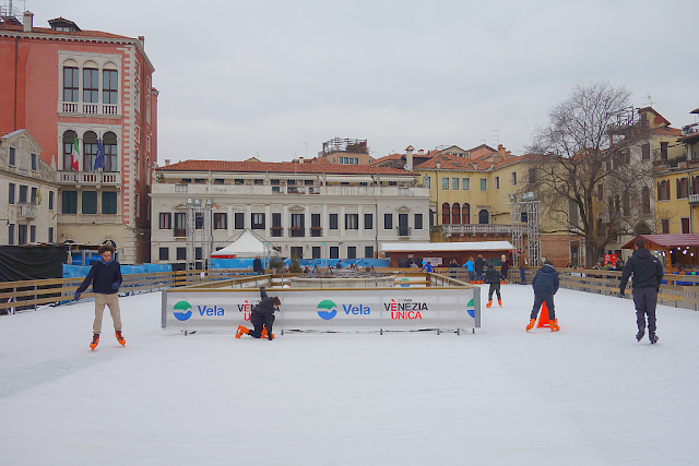
<path id="1" fill-rule="evenodd" d="M 516 194 L 510 195 L 512 215 L 512 260 L 517 264 L 520 254 L 524 253 L 530 266 L 541 265 L 542 239 L 540 201 L 534 193 L 522 194 L 522 202 L 517 202 Z"/>

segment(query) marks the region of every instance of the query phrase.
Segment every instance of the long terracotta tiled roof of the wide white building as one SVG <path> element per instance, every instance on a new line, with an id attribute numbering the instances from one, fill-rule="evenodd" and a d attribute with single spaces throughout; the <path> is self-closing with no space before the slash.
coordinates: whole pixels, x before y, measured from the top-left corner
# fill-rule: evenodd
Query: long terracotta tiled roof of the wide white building
<path id="1" fill-rule="evenodd" d="M 372 167 L 369 165 L 294 164 L 291 162 L 233 162 L 233 160 L 185 160 L 157 167 L 166 171 L 232 171 L 277 174 L 337 174 L 337 175 L 415 175 L 399 168 Z"/>

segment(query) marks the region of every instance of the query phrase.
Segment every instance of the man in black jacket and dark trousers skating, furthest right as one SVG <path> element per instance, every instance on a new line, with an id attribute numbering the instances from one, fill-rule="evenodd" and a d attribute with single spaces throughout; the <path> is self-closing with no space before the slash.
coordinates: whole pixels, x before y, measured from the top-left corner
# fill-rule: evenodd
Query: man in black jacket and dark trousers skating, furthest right
<path id="1" fill-rule="evenodd" d="M 621 298 L 626 290 L 626 283 L 631 274 L 633 274 L 631 285 L 633 287 L 633 304 L 636 306 L 636 323 L 638 324 L 636 339 L 640 342 L 645 335 L 645 315 L 648 315 L 648 337 L 651 344 L 654 344 L 657 342 L 657 335 L 655 335 L 655 307 L 657 306 L 657 291 L 660 291 L 664 274 L 660 261 L 645 249 L 645 240 L 641 237 L 633 240 L 633 254 L 629 258 L 621 273 L 621 283 L 619 285 Z"/>

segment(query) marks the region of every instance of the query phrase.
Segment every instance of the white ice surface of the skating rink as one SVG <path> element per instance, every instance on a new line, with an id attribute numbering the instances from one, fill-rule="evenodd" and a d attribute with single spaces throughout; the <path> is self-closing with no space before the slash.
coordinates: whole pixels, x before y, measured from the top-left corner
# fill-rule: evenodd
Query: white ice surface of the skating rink
<path id="1" fill-rule="evenodd" d="M 483 289 L 483 298 L 487 288 Z M 161 330 L 161 295 L 0 318 L 1 465 L 699 464 L 699 313 L 561 289 L 561 331 L 525 332 L 531 287 L 483 327 L 287 334 Z"/>

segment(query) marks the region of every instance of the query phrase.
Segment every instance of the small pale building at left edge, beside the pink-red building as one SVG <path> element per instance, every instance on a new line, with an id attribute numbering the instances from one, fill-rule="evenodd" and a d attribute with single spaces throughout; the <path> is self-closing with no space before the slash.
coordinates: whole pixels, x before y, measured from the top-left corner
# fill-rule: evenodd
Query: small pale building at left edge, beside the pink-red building
<path id="1" fill-rule="evenodd" d="M 0 244 L 56 242 L 56 170 L 27 130 L 0 136 Z"/>

